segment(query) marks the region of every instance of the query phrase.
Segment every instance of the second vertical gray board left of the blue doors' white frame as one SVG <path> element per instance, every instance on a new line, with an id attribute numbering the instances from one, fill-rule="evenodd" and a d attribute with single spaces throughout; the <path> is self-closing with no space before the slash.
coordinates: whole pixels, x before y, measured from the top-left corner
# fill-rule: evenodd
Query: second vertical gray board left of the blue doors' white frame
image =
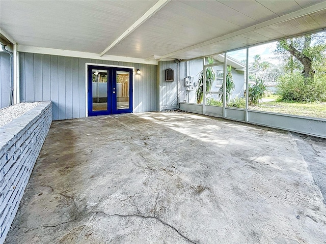
<path id="1" fill-rule="evenodd" d="M 79 58 L 72 58 L 72 117 L 79 118 Z"/>

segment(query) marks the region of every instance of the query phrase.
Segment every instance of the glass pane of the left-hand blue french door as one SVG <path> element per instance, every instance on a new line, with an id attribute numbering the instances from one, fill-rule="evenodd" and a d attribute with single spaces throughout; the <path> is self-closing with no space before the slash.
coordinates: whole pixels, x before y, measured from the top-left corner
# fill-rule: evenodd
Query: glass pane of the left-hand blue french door
<path id="1" fill-rule="evenodd" d="M 107 71 L 92 70 L 93 111 L 107 110 Z"/>

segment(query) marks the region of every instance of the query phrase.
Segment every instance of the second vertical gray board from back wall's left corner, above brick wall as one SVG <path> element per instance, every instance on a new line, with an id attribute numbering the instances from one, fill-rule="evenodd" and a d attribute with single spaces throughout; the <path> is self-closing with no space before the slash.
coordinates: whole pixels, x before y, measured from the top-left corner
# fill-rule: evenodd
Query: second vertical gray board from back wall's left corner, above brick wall
<path id="1" fill-rule="evenodd" d="M 26 99 L 25 102 L 35 102 L 34 97 L 34 54 L 25 54 L 25 87 Z"/>

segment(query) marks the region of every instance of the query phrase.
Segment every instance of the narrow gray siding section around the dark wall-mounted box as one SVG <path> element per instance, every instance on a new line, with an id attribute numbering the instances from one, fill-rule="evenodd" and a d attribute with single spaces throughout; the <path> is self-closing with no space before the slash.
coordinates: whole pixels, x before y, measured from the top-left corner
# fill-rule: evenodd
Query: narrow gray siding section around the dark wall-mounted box
<path id="1" fill-rule="evenodd" d="M 165 81 L 165 71 L 174 70 L 174 81 Z M 159 70 L 159 110 L 179 108 L 178 64 L 174 61 L 161 61 Z"/>

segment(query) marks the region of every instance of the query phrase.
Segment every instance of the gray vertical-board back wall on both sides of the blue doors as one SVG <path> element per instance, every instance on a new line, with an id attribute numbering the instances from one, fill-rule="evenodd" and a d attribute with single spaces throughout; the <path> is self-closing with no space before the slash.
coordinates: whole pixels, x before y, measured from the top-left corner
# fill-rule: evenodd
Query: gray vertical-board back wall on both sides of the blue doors
<path id="1" fill-rule="evenodd" d="M 47 54 L 19 53 L 21 102 L 52 101 L 52 118 L 86 115 L 85 63 L 134 67 L 133 112 L 156 111 L 156 66 Z"/>

